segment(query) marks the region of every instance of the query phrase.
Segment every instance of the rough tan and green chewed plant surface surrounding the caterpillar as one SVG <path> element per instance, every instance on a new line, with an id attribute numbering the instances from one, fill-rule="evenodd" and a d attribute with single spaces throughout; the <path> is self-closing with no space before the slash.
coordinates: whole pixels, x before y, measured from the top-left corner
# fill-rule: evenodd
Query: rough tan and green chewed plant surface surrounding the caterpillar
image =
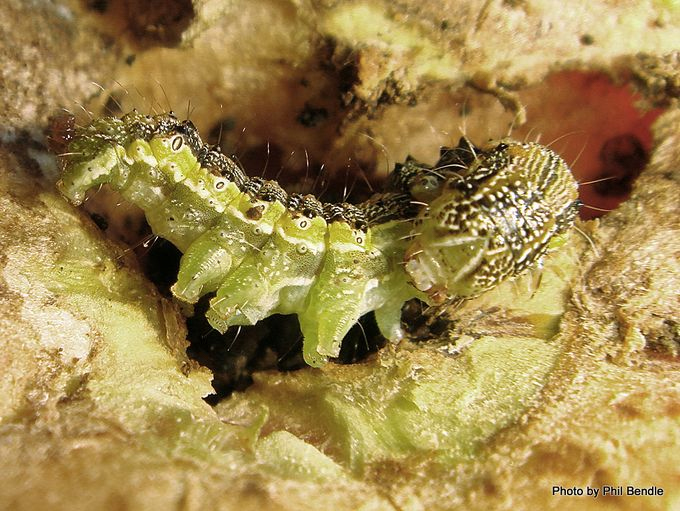
<path id="1" fill-rule="evenodd" d="M 671 3 L 5 4 L 0 507 L 678 505 Z M 47 118 L 116 102 L 192 110 L 252 174 L 268 161 L 302 189 L 323 163 L 339 170 L 340 195 L 346 172 L 378 182 L 406 154 L 434 161 L 459 127 L 478 142 L 511 125 L 515 138 L 564 137 L 553 147 L 581 181 L 619 178 L 583 185 L 590 206 L 614 207 L 639 178 L 533 278 L 445 320 L 406 311 L 429 341 L 350 366 L 256 373 L 210 407 L 178 307 L 106 239 L 118 230 L 134 242 L 138 213 L 95 194 L 105 235 L 53 189 Z M 624 496 L 553 496 L 560 485 Z M 664 495 L 626 497 L 627 485 Z"/>

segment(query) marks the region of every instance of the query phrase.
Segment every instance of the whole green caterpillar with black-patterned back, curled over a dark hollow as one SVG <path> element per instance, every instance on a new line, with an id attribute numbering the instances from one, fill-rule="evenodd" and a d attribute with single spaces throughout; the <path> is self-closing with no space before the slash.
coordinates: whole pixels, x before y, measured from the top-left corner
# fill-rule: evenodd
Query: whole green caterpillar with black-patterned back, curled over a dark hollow
<path id="1" fill-rule="evenodd" d="M 537 143 L 463 138 L 434 166 L 397 164 L 384 191 L 352 205 L 248 177 L 172 113 L 59 127 L 57 186 L 70 202 L 103 184 L 117 190 L 183 253 L 177 299 L 212 295 L 207 318 L 221 332 L 296 314 L 314 367 L 368 312 L 400 339 L 407 300 L 469 298 L 536 265 L 579 207 L 569 167 Z"/>

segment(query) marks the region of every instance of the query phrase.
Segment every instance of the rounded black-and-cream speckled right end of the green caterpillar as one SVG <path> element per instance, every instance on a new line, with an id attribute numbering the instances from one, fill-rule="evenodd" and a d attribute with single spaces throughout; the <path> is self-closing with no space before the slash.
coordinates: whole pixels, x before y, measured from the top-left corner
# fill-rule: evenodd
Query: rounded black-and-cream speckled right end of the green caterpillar
<path id="1" fill-rule="evenodd" d="M 405 254 L 413 285 L 433 302 L 476 296 L 535 265 L 578 212 L 578 185 L 547 147 L 469 148 L 469 165 L 447 176 L 415 220 Z"/>

